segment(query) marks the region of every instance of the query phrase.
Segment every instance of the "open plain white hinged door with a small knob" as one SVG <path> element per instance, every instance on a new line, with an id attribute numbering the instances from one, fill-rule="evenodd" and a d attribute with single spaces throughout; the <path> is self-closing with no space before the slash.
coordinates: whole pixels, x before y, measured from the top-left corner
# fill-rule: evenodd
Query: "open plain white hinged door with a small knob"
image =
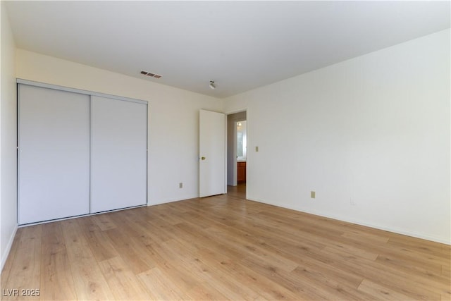
<path id="1" fill-rule="evenodd" d="M 199 111 L 199 197 L 226 193 L 226 116 Z"/>

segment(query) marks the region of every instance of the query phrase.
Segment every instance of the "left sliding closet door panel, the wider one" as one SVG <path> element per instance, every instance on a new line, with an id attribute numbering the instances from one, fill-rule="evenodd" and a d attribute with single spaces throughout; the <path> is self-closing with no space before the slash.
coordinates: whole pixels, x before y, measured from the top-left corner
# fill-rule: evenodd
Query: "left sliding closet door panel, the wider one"
<path id="1" fill-rule="evenodd" d="M 18 216 L 89 213 L 89 96 L 19 85 Z"/>

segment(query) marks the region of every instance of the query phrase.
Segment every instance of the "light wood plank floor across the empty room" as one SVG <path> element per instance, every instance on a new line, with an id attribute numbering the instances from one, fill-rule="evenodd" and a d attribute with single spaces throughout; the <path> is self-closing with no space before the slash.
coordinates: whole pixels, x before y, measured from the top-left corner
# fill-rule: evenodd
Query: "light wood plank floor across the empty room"
<path id="1" fill-rule="evenodd" d="M 450 246 L 247 201 L 242 190 L 20 228 L 2 298 L 451 299 Z M 39 297 L 21 296 L 33 289 Z"/>

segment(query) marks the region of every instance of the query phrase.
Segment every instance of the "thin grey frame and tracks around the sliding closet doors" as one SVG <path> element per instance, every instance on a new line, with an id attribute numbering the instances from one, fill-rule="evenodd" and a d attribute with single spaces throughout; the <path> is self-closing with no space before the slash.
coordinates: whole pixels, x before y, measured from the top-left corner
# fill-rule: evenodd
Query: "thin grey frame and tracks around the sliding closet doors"
<path id="1" fill-rule="evenodd" d="M 63 92 L 73 92 L 73 93 L 77 93 L 77 94 L 85 94 L 89 97 L 89 106 L 92 105 L 92 97 L 93 96 L 97 96 L 97 97 L 104 97 L 104 98 L 109 98 L 109 99 L 116 99 L 116 100 L 121 100 L 124 102 L 136 102 L 138 104 L 145 104 L 147 106 L 147 111 L 146 111 L 146 203 L 142 204 L 142 205 L 137 205 L 137 206 L 132 206 L 132 207 L 126 207 L 126 208 L 118 208 L 118 209 L 111 209 L 108 211 L 118 211 L 118 210 L 123 210 L 123 209 L 130 209 L 130 208 L 135 208 L 135 207 L 144 207 L 147 206 L 149 204 L 149 192 L 148 192 L 148 178 L 149 178 L 149 104 L 147 101 L 141 100 L 141 99 L 132 99 L 129 97 L 121 97 L 121 96 L 117 96 L 117 95 L 112 95 L 112 94 L 105 94 L 105 93 L 100 93 L 100 92 L 92 92 L 92 91 L 88 91 L 88 90 L 80 90 L 80 89 L 75 89 L 75 88 L 71 88 L 71 87 L 63 87 L 63 86 L 59 86 L 59 85 L 51 85 L 51 84 L 47 84 L 44 82 L 35 82 L 32 80 L 23 80 L 18 78 L 16 80 L 17 84 L 21 84 L 21 85 L 30 85 L 30 86 L 34 86 L 34 87 L 43 87 L 43 88 L 48 88 L 48 89 L 52 89 L 52 90 L 60 90 Z M 18 94 L 18 101 L 19 101 L 19 94 Z M 19 124 L 19 110 L 17 111 L 18 113 L 18 124 Z M 89 120 L 91 120 L 92 118 L 92 112 L 89 111 Z M 92 128 L 91 125 L 89 124 L 89 140 L 92 140 Z M 20 129 L 18 128 L 17 131 L 17 135 L 18 135 L 18 142 L 19 142 L 19 135 L 20 135 Z M 92 142 L 91 142 L 92 143 Z M 19 148 L 19 145 L 17 145 L 17 147 Z M 89 148 L 91 148 L 91 144 L 89 145 Z M 89 183 L 91 183 L 91 160 L 92 160 L 92 152 L 89 151 Z M 18 149 L 18 164 L 19 164 L 19 149 Z M 19 167 L 19 166 L 18 166 Z M 17 169 L 18 173 L 17 173 L 17 178 L 19 181 L 19 168 Z M 19 183 L 19 182 L 18 182 Z M 17 192 L 18 192 L 18 196 L 17 196 L 17 204 L 19 207 L 19 184 L 17 187 Z M 89 191 L 92 190 L 91 186 L 89 186 Z M 104 212 L 100 212 L 100 213 L 104 213 Z M 17 221 L 19 223 L 20 218 L 19 218 L 19 214 L 20 212 L 18 211 L 18 216 L 17 216 Z M 92 199 L 91 199 L 91 193 L 89 192 L 89 214 L 82 214 L 80 216 L 89 216 L 89 215 L 94 215 L 94 214 L 99 214 L 99 213 L 92 213 Z M 78 216 L 68 216 L 68 217 L 63 217 L 61 219 L 53 219 L 51 221 L 58 221 L 58 220 L 63 220 L 63 219 L 71 219 L 73 217 L 78 217 Z M 45 223 L 48 221 L 37 221 L 35 223 L 27 223 L 27 224 L 19 224 L 19 226 L 28 226 L 28 225 L 33 225 L 33 224 L 38 224 L 38 223 Z"/>

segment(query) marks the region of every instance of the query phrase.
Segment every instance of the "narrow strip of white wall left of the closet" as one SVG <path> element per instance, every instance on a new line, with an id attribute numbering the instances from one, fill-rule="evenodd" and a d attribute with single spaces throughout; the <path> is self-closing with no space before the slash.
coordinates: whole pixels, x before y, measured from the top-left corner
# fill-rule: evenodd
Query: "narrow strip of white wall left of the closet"
<path id="1" fill-rule="evenodd" d="M 6 6 L 1 1 L 1 102 L 0 102 L 0 259 L 1 267 L 17 229 L 16 75 L 13 34 Z"/>

